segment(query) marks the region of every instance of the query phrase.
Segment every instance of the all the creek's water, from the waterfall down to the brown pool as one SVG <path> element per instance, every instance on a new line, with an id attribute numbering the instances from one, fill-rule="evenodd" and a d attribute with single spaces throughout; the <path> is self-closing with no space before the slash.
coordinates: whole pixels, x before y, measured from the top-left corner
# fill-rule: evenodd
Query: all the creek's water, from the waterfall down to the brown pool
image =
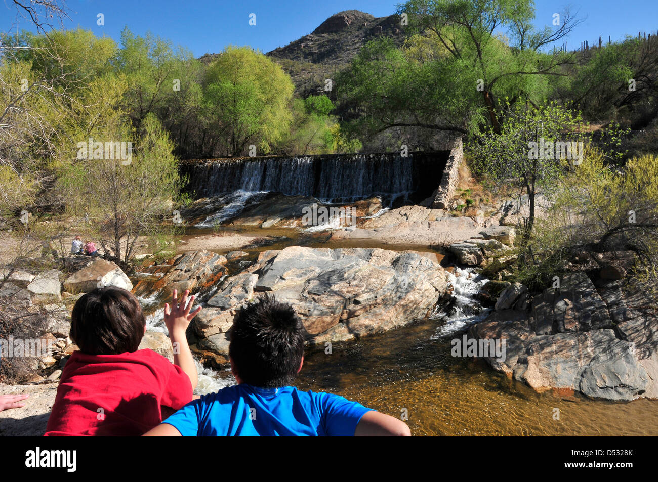
<path id="1" fill-rule="evenodd" d="M 265 192 L 313 196 L 324 202 L 346 203 L 378 194 L 382 204 L 396 199 L 418 202 L 440 182 L 447 151 L 396 154 L 331 155 L 216 159 L 187 162 L 182 167 L 197 197 L 217 197 L 219 208 L 186 237 L 213 233 L 213 226 L 235 216 L 248 202 Z M 233 229 L 269 237 L 243 248 L 247 258 L 229 265 L 243 268 L 265 249 L 288 246 L 380 247 L 403 251 L 440 250 L 404 245 L 382 245 L 372 240 L 330 241 L 321 228 Z M 222 228 L 222 233 L 231 231 Z M 226 254 L 225 251 L 217 251 Z M 297 380 L 301 389 L 330 391 L 357 400 L 392 416 L 401 417 L 413 435 L 658 435 L 658 400 L 613 403 L 579 395 L 535 393 L 523 383 L 493 372 L 483 360 L 451 356 L 451 339 L 461 337 L 470 324 L 488 314 L 477 294 L 486 279 L 474 270 L 454 268 L 448 274 L 452 301 L 427 320 L 366 337 L 334 343 L 331 352 L 309 349 Z M 149 329 L 164 331 L 163 301 L 142 299 L 149 313 Z M 197 363 L 197 393 L 211 393 L 232 385 L 227 370 L 209 370 Z"/>

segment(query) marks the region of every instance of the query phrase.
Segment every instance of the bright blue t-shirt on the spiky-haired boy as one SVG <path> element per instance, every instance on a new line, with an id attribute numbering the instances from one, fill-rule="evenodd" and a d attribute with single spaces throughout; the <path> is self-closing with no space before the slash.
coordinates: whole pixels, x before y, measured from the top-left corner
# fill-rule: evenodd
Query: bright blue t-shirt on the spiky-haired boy
<path id="1" fill-rule="evenodd" d="M 184 437 L 352 437 L 357 423 L 370 410 L 332 393 L 241 384 L 202 395 L 163 423 L 173 425 Z"/>

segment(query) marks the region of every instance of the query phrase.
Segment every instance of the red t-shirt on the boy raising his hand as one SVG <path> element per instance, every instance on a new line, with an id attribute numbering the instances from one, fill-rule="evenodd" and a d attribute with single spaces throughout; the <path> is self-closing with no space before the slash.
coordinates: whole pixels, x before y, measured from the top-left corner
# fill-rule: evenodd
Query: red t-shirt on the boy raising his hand
<path id="1" fill-rule="evenodd" d="M 74 351 L 64 366 L 45 436 L 139 436 L 163 421 L 161 406 L 178 410 L 191 399 L 190 377 L 153 350 L 118 355 Z"/>

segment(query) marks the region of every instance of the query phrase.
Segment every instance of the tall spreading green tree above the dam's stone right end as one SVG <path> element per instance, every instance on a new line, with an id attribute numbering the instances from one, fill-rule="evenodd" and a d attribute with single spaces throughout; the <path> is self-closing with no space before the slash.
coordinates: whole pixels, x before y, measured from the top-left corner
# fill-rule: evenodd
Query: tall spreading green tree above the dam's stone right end
<path id="1" fill-rule="evenodd" d="M 366 45 L 336 82 L 356 132 L 500 132 L 508 104 L 544 103 L 548 78 L 572 61 L 545 50 L 578 20 L 567 11 L 559 26 L 537 30 L 531 0 L 411 0 L 398 13 L 409 18 L 405 45 Z"/>

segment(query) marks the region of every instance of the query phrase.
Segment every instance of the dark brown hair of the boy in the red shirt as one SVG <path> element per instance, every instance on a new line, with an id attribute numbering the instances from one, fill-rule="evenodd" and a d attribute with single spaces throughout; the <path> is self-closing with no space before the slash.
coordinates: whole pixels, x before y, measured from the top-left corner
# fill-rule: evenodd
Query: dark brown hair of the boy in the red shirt
<path id="1" fill-rule="evenodd" d="M 144 336 L 146 320 L 130 291 L 108 286 L 76 301 L 70 337 L 81 352 L 111 355 L 134 352 Z"/>

